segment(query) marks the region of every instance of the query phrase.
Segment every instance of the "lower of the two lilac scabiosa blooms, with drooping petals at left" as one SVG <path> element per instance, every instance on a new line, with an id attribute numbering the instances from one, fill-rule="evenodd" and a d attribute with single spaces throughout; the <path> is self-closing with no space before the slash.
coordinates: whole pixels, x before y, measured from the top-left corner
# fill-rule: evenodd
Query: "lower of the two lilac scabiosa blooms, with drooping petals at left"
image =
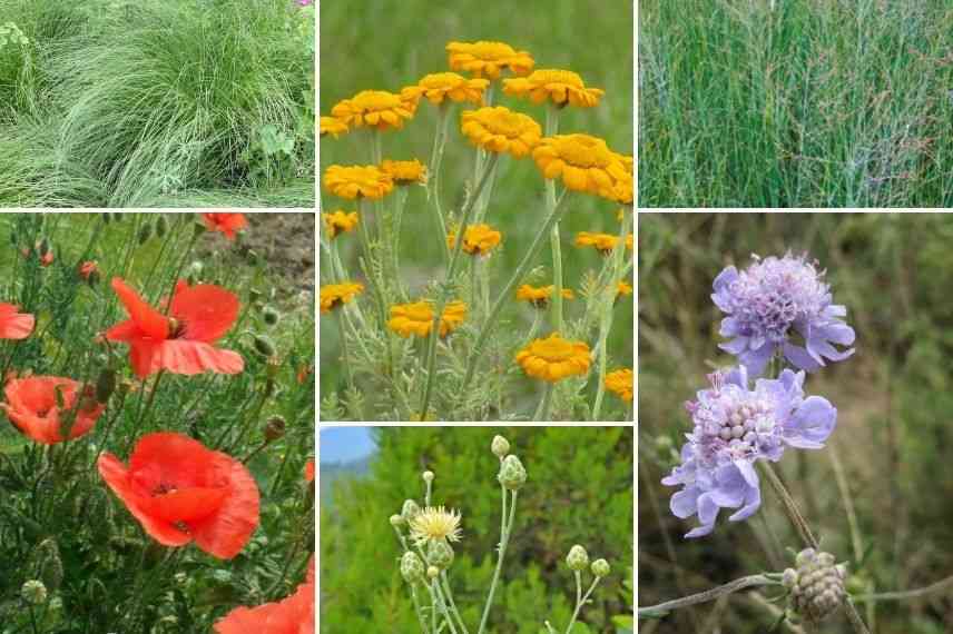
<path id="1" fill-rule="evenodd" d="M 681 464 L 661 481 L 684 488 L 671 496 L 671 512 L 682 519 L 698 515 L 701 526 L 685 536 L 715 528 L 721 508 L 737 508 L 728 519 L 750 517 L 762 504 L 757 460 L 778 462 L 787 447 L 819 449 L 837 424 L 826 398 L 804 396 L 804 372 L 785 369 L 748 388 L 745 366 L 708 376 L 711 387 L 686 404 L 695 425 L 681 448 Z"/>

